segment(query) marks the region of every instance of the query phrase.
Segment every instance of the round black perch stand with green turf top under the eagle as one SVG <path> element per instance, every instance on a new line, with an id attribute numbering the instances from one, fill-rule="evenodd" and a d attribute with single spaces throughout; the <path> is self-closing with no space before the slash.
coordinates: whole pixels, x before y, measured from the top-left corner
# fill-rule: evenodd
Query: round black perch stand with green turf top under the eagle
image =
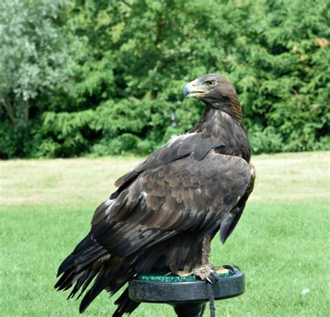
<path id="1" fill-rule="evenodd" d="M 177 316 L 198 317 L 203 316 L 203 307 L 210 300 L 210 291 L 207 290 L 210 286 L 214 300 L 239 296 L 245 291 L 244 274 L 241 270 L 228 270 L 228 274 L 220 274 L 212 285 L 191 276 L 185 279 L 166 275 L 139 275 L 129 281 L 129 297 L 136 302 L 171 304 Z"/>

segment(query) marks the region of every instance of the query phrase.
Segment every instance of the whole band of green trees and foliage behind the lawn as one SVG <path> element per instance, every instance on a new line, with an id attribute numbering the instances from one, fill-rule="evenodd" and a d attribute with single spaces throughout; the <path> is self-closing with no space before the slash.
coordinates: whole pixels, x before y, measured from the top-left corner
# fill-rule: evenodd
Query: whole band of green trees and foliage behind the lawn
<path id="1" fill-rule="evenodd" d="M 2 157 L 150 153 L 198 120 L 181 89 L 206 72 L 237 88 L 254 153 L 329 148 L 328 1 L 48 4 L 0 5 Z"/>

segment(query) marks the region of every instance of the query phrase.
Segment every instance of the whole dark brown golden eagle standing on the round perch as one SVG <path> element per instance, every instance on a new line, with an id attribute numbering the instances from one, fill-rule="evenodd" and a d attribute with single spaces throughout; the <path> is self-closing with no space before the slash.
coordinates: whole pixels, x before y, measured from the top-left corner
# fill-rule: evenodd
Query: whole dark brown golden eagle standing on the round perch
<path id="1" fill-rule="evenodd" d="M 58 268 L 55 287 L 73 286 L 69 298 L 93 281 L 80 312 L 136 273 L 184 271 L 205 279 L 210 241 L 220 230 L 224 243 L 242 215 L 256 173 L 235 88 L 223 75 L 207 74 L 183 94 L 205 104 L 201 119 L 116 181 L 118 190 L 96 209 L 91 231 Z M 116 304 L 113 316 L 139 305 L 127 288 Z"/>

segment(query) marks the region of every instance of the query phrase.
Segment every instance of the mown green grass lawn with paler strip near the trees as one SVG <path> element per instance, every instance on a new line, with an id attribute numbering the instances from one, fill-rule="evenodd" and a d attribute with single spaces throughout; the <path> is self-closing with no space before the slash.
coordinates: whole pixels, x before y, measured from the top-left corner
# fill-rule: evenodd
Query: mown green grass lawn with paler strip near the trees
<path id="1" fill-rule="evenodd" d="M 213 263 L 242 268 L 246 293 L 216 302 L 217 316 L 330 316 L 329 157 L 253 157 L 255 191 L 226 245 L 218 236 L 212 243 Z M 0 162 L 0 316 L 79 316 L 79 302 L 54 290 L 56 270 L 88 232 L 114 180 L 140 160 Z M 85 316 L 109 316 L 112 302 L 103 292 Z M 134 316 L 174 314 L 166 305 L 141 304 Z"/>

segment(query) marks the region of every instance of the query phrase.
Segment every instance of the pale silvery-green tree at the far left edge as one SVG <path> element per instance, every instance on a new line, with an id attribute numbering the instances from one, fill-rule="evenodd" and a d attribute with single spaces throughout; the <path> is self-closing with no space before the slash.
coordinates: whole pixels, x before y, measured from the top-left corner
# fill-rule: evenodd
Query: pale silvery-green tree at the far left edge
<path id="1" fill-rule="evenodd" d="M 74 73 L 72 47 L 79 48 L 79 42 L 65 33 L 60 15 L 65 5 L 47 0 L 0 2 L 0 114 L 11 123 L 1 125 L 2 132 L 7 130 L 1 147 L 8 155 L 27 154 L 30 113 L 42 110 L 36 100 L 47 103 L 58 88 L 65 90 Z"/>

